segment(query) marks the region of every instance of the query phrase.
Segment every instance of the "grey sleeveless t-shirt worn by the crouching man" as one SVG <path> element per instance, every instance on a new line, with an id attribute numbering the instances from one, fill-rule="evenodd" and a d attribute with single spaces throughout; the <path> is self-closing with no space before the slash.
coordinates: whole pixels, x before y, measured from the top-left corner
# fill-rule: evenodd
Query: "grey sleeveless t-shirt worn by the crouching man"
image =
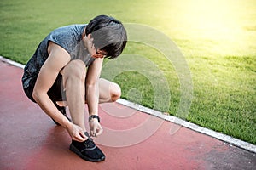
<path id="1" fill-rule="evenodd" d="M 44 65 L 45 60 L 49 54 L 47 51 L 49 41 L 55 42 L 62 48 L 64 48 L 73 59 L 81 59 L 86 66 L 89 66 L 95 59 L 90 56 L 88 50 L 84 48 L 82 42 L 82 34 L 86 25 L 71 25 L 63 26 L 55 29 L 42 42 L 38 45 L 35 54 L 27 62 L 24 68 L 24 75 L 22 77 L 23 88 L 27 88 L 30 85 L 30 81 L 38 77 L 38 73 Z"/>

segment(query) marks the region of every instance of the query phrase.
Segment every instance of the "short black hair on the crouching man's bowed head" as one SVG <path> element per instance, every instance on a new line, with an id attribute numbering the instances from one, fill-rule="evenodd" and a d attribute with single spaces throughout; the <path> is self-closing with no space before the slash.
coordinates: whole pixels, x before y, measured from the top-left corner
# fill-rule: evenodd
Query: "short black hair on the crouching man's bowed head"
<path id="1" fill-rule="evenodd" d="M 107 52 L 107 58 L 113 59 L 121 54 L 126 46 L 127 34 L 125 27 L 113 17 L 99 15 L 90 20 L 85 34 L 91 34 L 97 49 Z"/>

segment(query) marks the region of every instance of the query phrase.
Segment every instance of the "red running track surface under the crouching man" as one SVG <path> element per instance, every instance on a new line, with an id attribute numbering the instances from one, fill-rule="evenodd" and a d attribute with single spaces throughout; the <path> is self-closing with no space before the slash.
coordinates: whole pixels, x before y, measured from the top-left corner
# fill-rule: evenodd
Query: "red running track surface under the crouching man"
<path id="1" fill-rule="evenodd" d="M 68 150 L 62 127 L 26 98 L 22 69 L 0 61 L 0 169 L 256 169 L 255 154 L 119 104 L 99 106 L 98 163 Z M 87 117 L 85 117 L 87 120 Z"/>

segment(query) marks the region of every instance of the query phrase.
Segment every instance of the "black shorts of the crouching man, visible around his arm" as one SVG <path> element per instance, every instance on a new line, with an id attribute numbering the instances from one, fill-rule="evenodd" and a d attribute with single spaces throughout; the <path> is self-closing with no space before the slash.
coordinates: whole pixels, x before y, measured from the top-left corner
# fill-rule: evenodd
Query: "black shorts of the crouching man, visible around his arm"
<path id="1" fill-rule="evenodd" d="M 28 88 L 24 88 L 26 96 L 31 99 L 33 102 L 36 103 L 36 101 L 32 97 L 33 89 L 35 87 L 35 83 L 37 81 L 38 76 L 33 77 L 32 80 L 29 82 Z M 49 95 L 49 99 L 52 101 L 61 101 L 66 99 L 66 94 L 63 91 L 63 85 L 62 85 L 62 75 L 59 73 L 58 77 L 55 80 L 55 83 L 52 85 L 51 88 L 49 88 L 49 91 L 47 94 Z"/>

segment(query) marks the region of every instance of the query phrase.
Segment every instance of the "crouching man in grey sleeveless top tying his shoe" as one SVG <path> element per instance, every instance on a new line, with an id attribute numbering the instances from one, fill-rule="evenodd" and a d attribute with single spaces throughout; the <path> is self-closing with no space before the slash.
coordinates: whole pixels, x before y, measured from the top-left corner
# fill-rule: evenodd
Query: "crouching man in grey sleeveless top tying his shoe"
<path id="1" fill-rule="evenodd" d="M 72 138 L 70 150 L 87 161 L 103 161 L 102 151 L 90 136 L 102 133 L 98 104 L 119 99 L 114 82 L 99 78 L 105 57 L 113 59 L 125 48 L 127 36 L 119 20 L 99 15 L 88 25 L 57 28 L 42 42 L 26 64 L 22 83 L 29 99 L 37 103 Z M 71 120 L 65 107 L 68 105 Z M 88 105 L 90 135 L 84 122 Z"/>

